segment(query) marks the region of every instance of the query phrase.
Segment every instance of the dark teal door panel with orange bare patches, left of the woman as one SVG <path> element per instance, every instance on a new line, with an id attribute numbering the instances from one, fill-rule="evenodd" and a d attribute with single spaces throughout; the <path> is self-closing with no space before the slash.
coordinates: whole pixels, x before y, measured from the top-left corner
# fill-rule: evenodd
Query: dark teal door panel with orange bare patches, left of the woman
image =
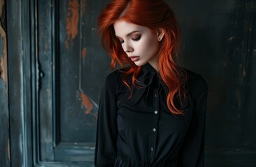
<path id="1" fill-rule="evenodd" d="M 100 1 L 38 1 L 39 161 L 91 166 L 109 58 L 99 48 Z"/>

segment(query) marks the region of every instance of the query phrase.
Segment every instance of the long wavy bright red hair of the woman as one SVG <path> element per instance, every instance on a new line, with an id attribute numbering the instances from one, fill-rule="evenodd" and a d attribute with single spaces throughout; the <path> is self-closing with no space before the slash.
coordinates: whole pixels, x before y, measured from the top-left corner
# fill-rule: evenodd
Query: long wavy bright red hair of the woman
<path id="1" fill-rule="evenodd" d="M 146 26 L 152 31 L 159 28 L 164 30 L 164 38 L 157 52 L 157 67 L 164 84 L 169 89 L 166 98 L 169 110 L 174 114 L 182 114 L 183 111 L 178 109 L 174 101 L 177 97 L 179 100 L 185 98 L 186 75 L 183 68 L 176 63 L 180 30 L 173 11 L 162 0 L 113 0 L 101 11 L 98 19 L 99 33 L 101 33 L 102 46 L 111 56 L 111 68 L 113 69 L 116 63 L 122 67 L 129 64 L 125 76 L 132 74 L 132 84 L 135 86 L 141 67 L 136 66 L 127 57 L 118 38 L 115 37 L 113 24 L 119 19 Z M 131 90 L 125 79 L 123 82 Z"/>

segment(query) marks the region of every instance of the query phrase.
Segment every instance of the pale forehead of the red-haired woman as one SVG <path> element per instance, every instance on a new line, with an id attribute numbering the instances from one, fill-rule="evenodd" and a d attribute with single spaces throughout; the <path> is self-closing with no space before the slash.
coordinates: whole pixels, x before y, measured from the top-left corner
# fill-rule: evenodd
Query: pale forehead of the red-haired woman
<path id="1" fill-rule="evenodd" d="M 125 37 L 126 35 L 128 35 L 133 31 L 141 31 L 143 33 L 150 32 L 150 29 L 148 29 L 148 27 L 133 24 L 131 22 L 126 22 L 124 20 L 116 21 L 113 24 L 113 26 L 115 30 L 115 35 L 119 37 Z"/>

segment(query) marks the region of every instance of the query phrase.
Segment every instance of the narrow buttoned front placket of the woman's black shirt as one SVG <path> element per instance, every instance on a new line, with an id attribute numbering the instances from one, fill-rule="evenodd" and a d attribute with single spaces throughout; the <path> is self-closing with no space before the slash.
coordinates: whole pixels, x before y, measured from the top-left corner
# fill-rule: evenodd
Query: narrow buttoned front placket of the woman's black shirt
<path id="1" fill-rule="evenodd" d="M 152 133 L 152 145 L 150 146 L 150 159 L 151 162 L 155 160 L 155 152 L 157 145 L 157 132 L 158 132 L 158 121 L 159 121 L 159 88 L 154 88 L 152 98 L 152 111 L 154 119 L 152 122 L 151 133 Z"/>

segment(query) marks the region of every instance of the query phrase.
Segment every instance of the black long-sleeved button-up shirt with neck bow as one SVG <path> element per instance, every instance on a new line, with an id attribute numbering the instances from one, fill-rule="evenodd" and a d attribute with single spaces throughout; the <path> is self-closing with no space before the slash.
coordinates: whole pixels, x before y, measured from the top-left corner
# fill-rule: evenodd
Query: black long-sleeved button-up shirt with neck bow
<path id="1" fill-rule="evenodd" d="M 207 85 L 187 72 L 183 115 L 166 105 L 166 86 L 149 64 L 138 77 L 140 88 L 130 90 L 120 70 L 106 77 L 97 122 L 95 166 L 204 166 Z M 141 88 L 142 87 L 142 88 Z M 128 99 L 128 100 L 127 100 Z"/>

